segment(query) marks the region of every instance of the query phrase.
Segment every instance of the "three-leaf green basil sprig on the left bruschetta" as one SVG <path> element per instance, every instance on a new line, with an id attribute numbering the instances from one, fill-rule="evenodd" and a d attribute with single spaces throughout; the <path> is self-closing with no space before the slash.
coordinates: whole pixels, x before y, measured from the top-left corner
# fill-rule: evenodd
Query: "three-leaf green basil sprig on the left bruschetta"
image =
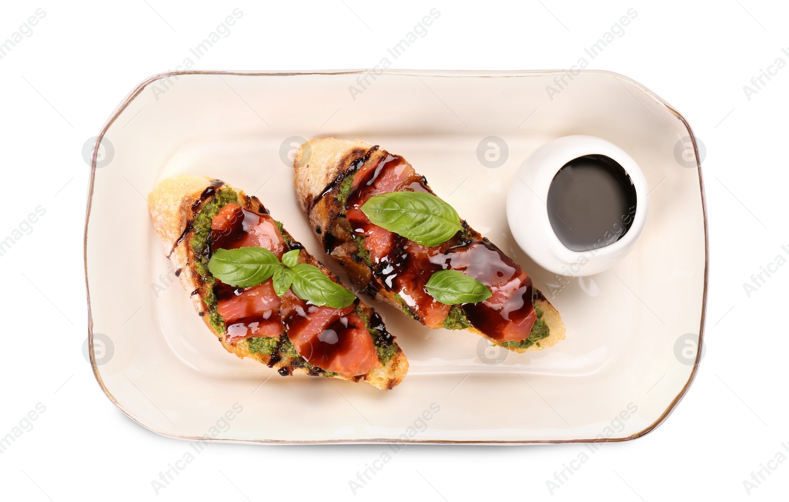
<path id="1" fill-rule="evenodd" d="M 273 278 L 278 296 L 290 288 L 302 300 L 333 309 L 343 309 L 356 300 L 356 295 L 329 279 L 320 268 L 298 263 L 298 255 L 298 249 L 288 251 L 280 263 L 274 253 L 258 246 L 217 249 L 208 260 L 208 270 L 222 283 L 237 287 L 253 287 Z"/>

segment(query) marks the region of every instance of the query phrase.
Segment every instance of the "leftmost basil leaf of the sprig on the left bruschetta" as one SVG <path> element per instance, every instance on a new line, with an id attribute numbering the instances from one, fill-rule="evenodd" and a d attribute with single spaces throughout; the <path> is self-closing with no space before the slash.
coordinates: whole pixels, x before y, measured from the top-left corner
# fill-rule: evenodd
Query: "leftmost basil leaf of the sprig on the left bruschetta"
<path id="1" fill-rule="evenodd" d="M 256 245 L 238 249 L 217 249 L 208 270 L 222 283 L 252 287 L 263 283 L 279 268 L 279 260 L 268 249 Z"/>

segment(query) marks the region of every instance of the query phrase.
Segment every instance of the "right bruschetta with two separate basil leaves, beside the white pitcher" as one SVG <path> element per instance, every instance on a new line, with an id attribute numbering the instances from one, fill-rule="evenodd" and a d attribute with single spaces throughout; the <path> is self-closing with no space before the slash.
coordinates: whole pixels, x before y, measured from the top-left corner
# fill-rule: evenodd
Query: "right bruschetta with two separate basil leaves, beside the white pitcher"
<path id="1" fill-rule="evenodd" d="M 428 328 L 466 329 L 516 352 L 565 337 L 510 257 L 460 219 L 406 159 L 321 138 L 294 157 L 298 203 L 327 254 L 370 298 Z"/>

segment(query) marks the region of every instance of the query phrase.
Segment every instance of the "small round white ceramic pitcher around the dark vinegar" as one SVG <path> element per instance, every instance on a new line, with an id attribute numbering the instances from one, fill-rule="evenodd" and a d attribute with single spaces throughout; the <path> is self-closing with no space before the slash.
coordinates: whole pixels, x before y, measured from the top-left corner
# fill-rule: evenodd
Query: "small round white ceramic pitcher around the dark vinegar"
<path id="1" fill-rule="evenodd" d="M 626 234 L 616 242 L 578 252 L 567 249 L 548 220 L 548 189 L 556 173 L 584 155 L 606 155 L 623 167 L 636 190 L 636 212 Z M 594 275 L 630 253 L 649 213 L 649 186 L 636 161 L 611 141 L 574 135 L 549 141 L 518 168 L 507 195 L 507 220 L 518 245 L 541 267 L 559 275 Z"/>

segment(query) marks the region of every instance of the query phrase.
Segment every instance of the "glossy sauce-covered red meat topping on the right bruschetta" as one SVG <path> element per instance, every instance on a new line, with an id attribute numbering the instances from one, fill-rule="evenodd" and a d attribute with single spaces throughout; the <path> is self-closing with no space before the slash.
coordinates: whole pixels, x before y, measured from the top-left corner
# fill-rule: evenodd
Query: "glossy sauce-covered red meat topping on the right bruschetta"
<path id="1" fill-rule="evenodd" d="M 353 176 L 346 219 L 353 234 L 364 238 L 377 287 L 396 292 L 423 324 L 440 328 L 450 307 L 436 302 L 424 286 L 436 271 L 457 270 L 490 287 L 493 294 L 484 302 L 462 305 L 474 328 L 501 342 L 529 336 L 536 320 L 531 279 L 487 239 L 468 240 L 458 232 L 442 245 L 425 247 L 373 225 L 361 212 L 361 205 L 379 193 L 432 193 L 405 159 L 387 155 Z M 373 289 L 368 284 L 367 290 Z"/>

